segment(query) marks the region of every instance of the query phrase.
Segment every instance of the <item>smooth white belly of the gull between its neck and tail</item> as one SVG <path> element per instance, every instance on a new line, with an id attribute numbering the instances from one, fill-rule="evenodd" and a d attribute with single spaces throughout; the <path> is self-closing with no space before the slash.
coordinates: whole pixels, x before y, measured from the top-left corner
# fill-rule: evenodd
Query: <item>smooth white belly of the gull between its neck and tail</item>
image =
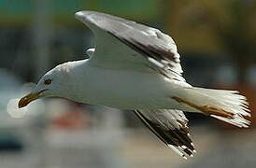
<path id="1" fill-rule="evenodd" d="M 176 108 L 179 85 L 157 74 L 89 68 L 70 99 L 120 109 Z M 79 80 L 78 80 L 79 81 Z"/>

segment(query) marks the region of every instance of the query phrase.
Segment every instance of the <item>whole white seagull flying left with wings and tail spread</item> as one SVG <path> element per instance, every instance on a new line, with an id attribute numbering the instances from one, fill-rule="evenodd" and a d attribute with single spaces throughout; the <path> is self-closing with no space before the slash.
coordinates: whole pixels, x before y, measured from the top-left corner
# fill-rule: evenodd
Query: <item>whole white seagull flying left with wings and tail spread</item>
<path id="1" fill-rule="evenodd" d="M 21 98 L 19 107 L 40 97 L 133 110 L 167 147 L 184 159 L 194 145 L 183 111 L 201 113 L 238 127 L 249 126 L 249 104 L 238 91 L 192 87 L 182 77 L 177 46 L 160 30 L 96 11 L 75 17 L 96 39 L 89 59 L 60 64 Z"/>

